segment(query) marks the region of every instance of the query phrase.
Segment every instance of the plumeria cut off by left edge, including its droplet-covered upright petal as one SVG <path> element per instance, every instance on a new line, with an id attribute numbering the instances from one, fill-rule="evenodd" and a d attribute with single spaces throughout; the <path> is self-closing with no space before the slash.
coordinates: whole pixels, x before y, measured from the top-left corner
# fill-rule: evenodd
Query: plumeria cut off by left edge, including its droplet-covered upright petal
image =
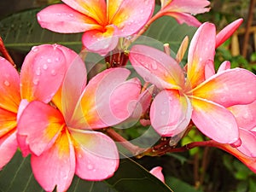
<path id="1" fill-rule="evenodd" d="M 9 61 L 0 57 L 0 169 L 17 150 L 16 125 L 22 108 L 34 100 L 45 103 L 51 100 L 61 86 L 67 62 L 73 54 L 63 46 L 33 47 L 26 55 L 20 74 Z"/>

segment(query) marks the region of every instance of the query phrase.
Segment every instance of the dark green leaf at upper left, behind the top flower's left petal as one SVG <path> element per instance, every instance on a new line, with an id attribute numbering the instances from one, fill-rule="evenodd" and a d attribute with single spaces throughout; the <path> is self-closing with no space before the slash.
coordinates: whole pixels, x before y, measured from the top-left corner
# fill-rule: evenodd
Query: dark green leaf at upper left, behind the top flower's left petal
<path id="1" fill-rule="evenodd" d="M 36 17 L 38 11 L 40 9 L 22 11 L 0 21 L 0 36 L 8 49 L 27 52 L 39 44 L 62 44 L 76 51 L 81 49 L 81 33 L 61 34 L 43 29 Z"/>

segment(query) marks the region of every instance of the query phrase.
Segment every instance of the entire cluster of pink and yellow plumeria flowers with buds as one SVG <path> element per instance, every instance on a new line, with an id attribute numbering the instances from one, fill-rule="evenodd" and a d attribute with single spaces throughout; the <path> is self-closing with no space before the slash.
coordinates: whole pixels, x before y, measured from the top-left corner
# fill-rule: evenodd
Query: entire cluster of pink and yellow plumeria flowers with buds
<path id="1" fill-rule="evenodd" d="M 161 0 L 155 15 L 154 0 L 62 1 L 40 11 L 39 24 L 54 32 L 84 32 L 83 51 L 100 55 L 119 49 L 122 38 L 136 40 L 163 15 L 199 28 L 185 67 L 179 62 L 187 38 L 177 58 L 143 44 L 129 48 L 131 66 L 146 82 L 143 89 L 139 79 L 128 79 L 125 67 L 105 69 L 88 80 L 80 55 L 60 44 L 33 47 L 20 73 L 0 57 L 0 169 L 20 148 L 23 156 L 31 154 L 32 172 L 46 191 L 66 191 L 74 175 L 104 180 L 118 169 L 119 151 L 117 138 L 102 129 L 135 116 L 143 124 L 148 114 L 146 124 L 160 137 L 182 138 L 195 125 L 212 146 L 256 172 L 256 76 L 231 69 L 229 61 L 217 72 L 214 68 L 215 50 L 242 20 L 217 34 L 212 23 L 201 24 L 193 16 L 209 10 L 206 0 Z M 152 173 L 164 181 L 160 170 Z"/>

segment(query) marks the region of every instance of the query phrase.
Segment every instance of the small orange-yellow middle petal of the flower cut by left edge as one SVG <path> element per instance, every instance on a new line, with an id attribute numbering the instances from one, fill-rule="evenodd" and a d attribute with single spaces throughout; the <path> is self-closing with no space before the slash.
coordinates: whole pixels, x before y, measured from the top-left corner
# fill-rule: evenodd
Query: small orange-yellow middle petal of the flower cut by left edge
<path id="1" fill-rule="evenodd" d="M 15 130 L 17 125 L 16 116 L 16 113 L 0 108 L 0 138 L 9 131 Z"/>

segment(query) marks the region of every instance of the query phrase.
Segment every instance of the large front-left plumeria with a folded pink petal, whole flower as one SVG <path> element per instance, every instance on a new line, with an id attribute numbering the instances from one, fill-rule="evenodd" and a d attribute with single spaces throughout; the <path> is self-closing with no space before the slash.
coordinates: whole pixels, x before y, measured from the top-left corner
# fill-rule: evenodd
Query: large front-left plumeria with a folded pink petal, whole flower
<path id="1" fill-rule="evenodd" d="M 141 86 L 125 81 L 129 70 L 111 68 L 86 82 L 84 64 L 73 62 L 51 105 L 30 102 L 20 115 L 18 142 L 31 154 L 32 172 L 46 191 L 66 191 L 74 174 L 99 181 L 113 176 L 119 154 L 100 131 L 127 119 Z"/>

